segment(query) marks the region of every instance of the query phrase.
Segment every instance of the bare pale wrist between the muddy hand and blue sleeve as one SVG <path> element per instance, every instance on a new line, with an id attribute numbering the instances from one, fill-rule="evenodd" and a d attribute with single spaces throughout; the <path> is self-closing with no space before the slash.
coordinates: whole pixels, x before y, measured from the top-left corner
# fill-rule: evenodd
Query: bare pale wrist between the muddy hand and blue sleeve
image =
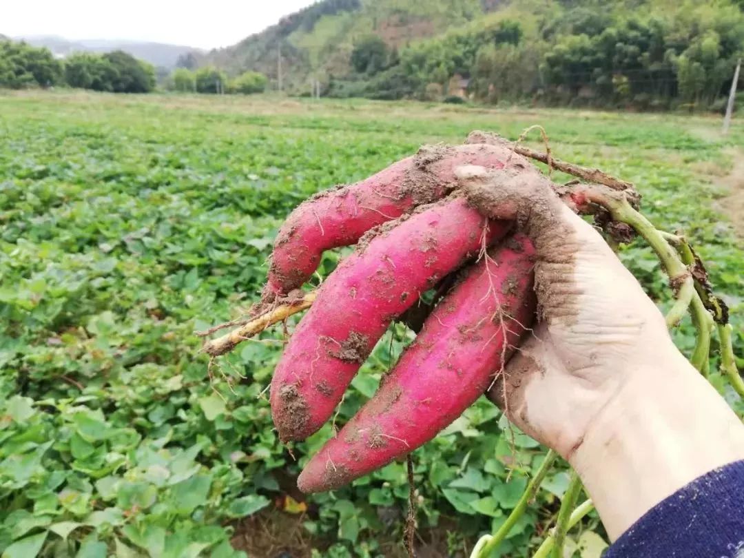
<path id="1" fill-rule="evenodd" d="M 616 539 L 700 475 L 744 459 L 744 426 L 671 346 L 635 371 L 569 457 Z"/>

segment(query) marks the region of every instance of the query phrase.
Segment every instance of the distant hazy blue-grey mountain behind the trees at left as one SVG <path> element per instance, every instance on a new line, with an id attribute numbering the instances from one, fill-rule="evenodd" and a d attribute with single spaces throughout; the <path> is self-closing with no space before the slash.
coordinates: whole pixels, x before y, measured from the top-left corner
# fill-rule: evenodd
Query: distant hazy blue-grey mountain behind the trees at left
<path id="1" fill-rule="evenodd" d="M 154 66 L 173 68 L 176 60 L 184 54 L 199 51 L 199 49 L 182 45 L 167 45 L 160 42 L 137 42 L 107 39 L 89 39 L 70 41 L 60 36 L 38 35 L 16 37 L 28 42 L 30 45 L 48 48 L 57 57 L 65 57 L 73 52 L 110 52 L 124 51 L 132 54 Z"/>

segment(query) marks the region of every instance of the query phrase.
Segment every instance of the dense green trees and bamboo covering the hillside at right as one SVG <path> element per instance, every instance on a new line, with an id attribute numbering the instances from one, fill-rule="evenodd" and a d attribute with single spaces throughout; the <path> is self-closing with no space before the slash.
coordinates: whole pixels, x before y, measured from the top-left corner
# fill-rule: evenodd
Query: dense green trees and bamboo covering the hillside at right
<path id="1" fill-rule="evenodd" d="M 570 3 L 570 2 L 569 2 Z M 360 39 L 327 94 L 487 103 L 720 109 L 744 55 L 744 13 L 727 1 L 612 10 L 600 2 L 533 21 L 470 25 L 400 51 Z M 642 3 L 639 3 L 642 4 Z"/>

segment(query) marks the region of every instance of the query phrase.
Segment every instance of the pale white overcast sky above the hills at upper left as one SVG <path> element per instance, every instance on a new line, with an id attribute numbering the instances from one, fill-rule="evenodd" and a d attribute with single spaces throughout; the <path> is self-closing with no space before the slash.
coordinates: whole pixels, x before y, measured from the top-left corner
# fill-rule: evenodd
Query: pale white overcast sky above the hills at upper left
<path id="1" fill-rule="evenodd" d="M 0 0 L 0 33 L 234 45 L 314 0 Z"/>

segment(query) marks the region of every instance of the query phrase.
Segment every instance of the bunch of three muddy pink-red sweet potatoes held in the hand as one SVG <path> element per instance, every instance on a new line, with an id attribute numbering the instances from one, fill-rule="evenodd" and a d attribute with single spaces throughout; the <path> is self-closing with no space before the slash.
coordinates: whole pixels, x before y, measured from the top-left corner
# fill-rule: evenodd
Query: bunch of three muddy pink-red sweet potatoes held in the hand
<path id="1" fill-rule="evenodd" d="M 487 391 L 531 327 L 533 246 L 458 192 L 466 165 L 537 173 L 503 145 L 427 147 L 314 196 L 281 228 L 264 305 L 301 286 L 324 250 L 357 245 L 318 289 L 275 371 L 283 441 L 316 432 L 391 321 L 427 290 L 443 294 L 376 394 L 307 464 L 301 490 L 339 487 L 431 440 Z"/>

